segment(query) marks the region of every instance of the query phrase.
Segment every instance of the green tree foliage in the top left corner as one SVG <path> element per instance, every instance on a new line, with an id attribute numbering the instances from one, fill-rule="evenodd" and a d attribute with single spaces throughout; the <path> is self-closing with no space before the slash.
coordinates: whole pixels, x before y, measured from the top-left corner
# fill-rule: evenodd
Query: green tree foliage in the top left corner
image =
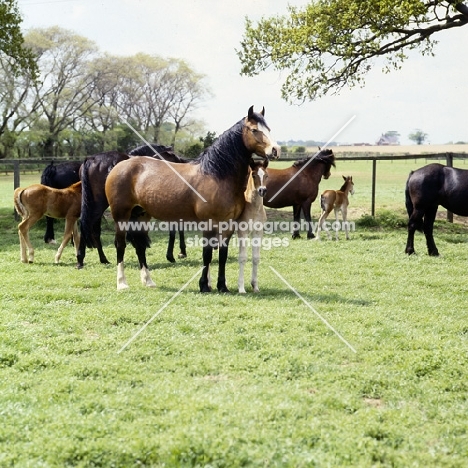
<path id="1" fill-rule="evenodd" d="M 37 65 L 34 53 L 24 47 L 21 32 L 21 16 L 16 0 L 1 0 L 0 2 L 0 58 L 8 57 L 15 73 L 26 73 L 36 77 Z"/>

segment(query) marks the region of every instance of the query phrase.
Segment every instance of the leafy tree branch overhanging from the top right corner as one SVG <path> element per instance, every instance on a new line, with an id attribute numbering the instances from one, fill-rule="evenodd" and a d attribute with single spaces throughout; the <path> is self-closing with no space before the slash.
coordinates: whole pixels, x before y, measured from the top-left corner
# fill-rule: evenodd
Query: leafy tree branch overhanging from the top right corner
<path id="1" fill-rule="evenodd" d="M 246 20 L 241 74 L 287 71 L 282 97 L 314 100 L 362 84 L 373 60 L 399 68 L 406 51 L 432 54 L 432 36 L 468 23 L 459 0 L 314 0 L 289 16 Z"/>

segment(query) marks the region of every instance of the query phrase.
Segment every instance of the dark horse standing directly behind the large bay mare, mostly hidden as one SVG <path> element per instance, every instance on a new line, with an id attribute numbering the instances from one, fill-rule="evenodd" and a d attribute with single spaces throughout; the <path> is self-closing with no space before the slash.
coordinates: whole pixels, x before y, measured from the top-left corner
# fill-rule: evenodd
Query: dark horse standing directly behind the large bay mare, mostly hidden
<path id="1" fill-rule="evenodd" d="M 150 156 L 157 159 L 161 159 L 162 157 L 170 162 L 187 162 L 187 159 L 175 154 L 170 146 L 156 144 L 152 144 L 151 147 L 148 145 L 139 146 L 130 150 L 128 154 L 118 151 L 108 151 L 87 157 L 80 170 L 83 195 L 80 223 L 81 239 L 77 255 L 77 268 L 83 268 L 86 247 L 97 248 L 99 261 L 101 263 L 109 263 L 104 254 L 101 242 L 101 219 L 104 211 L 106 211 L 109 206 L 104 187 L 107 175 L 114 166 L 134 156 Z M 170 233 L 166 257 L 172 262 L 175 260 L 173 256 L 171 259 L 169 253 L 172 255 L 174 239 L 175 232 Z M 182 254 L 185 254 L 185 243 L 181 244 L 181 251 Z"/>

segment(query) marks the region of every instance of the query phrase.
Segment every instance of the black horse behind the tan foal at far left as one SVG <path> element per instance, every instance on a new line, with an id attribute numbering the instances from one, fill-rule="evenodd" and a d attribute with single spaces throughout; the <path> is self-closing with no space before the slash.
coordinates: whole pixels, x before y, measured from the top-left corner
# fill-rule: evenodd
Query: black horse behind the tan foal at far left
<path id="1" fill-rule="evenodd" d="M 80 180 L 81 162 L 67 161 L 54 165 L 52 161 L 42 172 L 41 184 L 52 188 L 66 188 Z M 46 244 L 55 244 L 54 218 L 46 216 L 46 232 L 44 234 Z"/>

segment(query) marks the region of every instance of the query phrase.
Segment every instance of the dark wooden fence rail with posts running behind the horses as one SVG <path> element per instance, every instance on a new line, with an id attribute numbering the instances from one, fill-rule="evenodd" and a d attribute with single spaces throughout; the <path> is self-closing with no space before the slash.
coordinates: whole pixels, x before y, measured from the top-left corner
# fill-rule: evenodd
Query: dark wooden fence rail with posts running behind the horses
<path id="1" fill-rule="evenodd" d="M 291 153 L 293 158 L 282 157 L 280 161 L 293 161 L 301 157 L 313 156 L 315 153 Z M 289 156 L 289 155 L 288 155 Z M 371 197 L 371 215 L 375 216 L 375 193 L 377 187 L 377 162 L 378 161 L 398 161 L 400 159 L 426 159 L 426 160 L 442 160 L 449 167 L 453 167 L 454 159 L 468 159 L 468 153 L 429 153 L 429 154 L 365 154 L 357 155 L 335 153 L 337 161 L 372 161 L 372 197 Z M 20 186 L 21 171 L 25 172 L 42 172 L 44 168 L 52 161 L 61 163 L 65 161 L 82 161 L 83 158 L 70 159 L 3 159 L 0 160 L 0 173 L 13 172 L 14 188 Z M 447 220 L 453 221 L 453 214 L 447 211 Z"/>

